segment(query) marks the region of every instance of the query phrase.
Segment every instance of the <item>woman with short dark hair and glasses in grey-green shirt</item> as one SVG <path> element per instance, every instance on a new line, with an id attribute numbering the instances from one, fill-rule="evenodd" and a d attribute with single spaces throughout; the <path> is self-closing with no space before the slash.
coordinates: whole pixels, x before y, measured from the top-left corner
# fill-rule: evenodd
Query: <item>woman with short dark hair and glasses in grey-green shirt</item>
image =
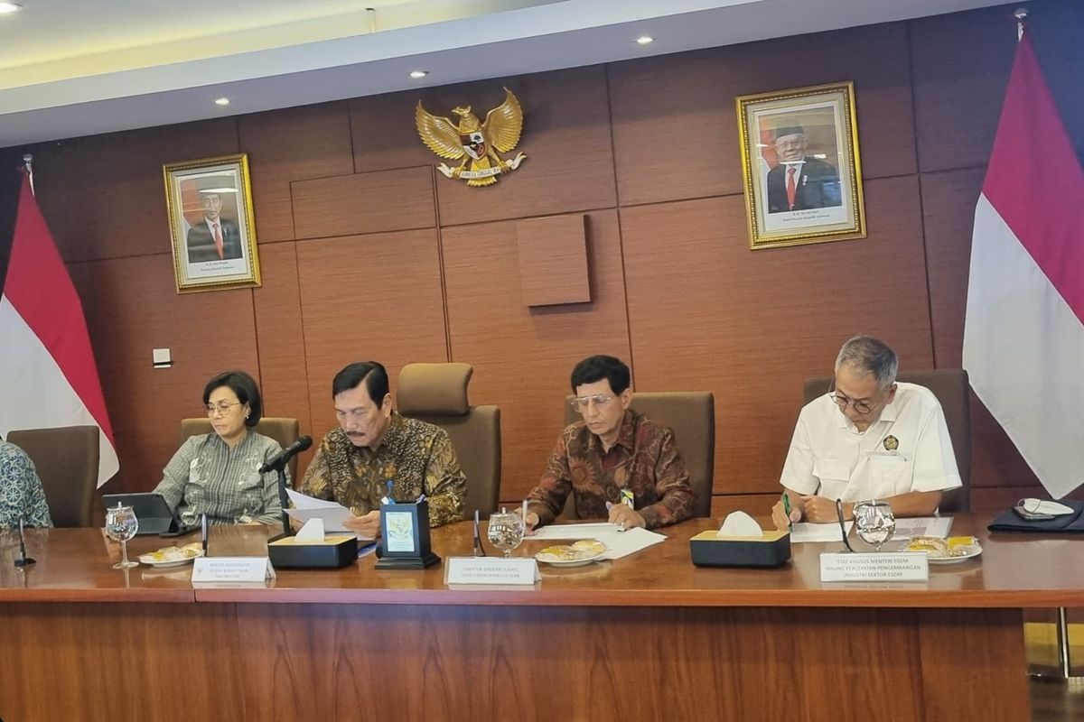
<path id="1" fill-rule="evenodd" d="M 260 474 L 259 468 L 282 447 L 253 431 L 263 410 L 256 381 L 244 371 L 219 373 L 207 382 L 203 401 L 212 433 L 181 445 L 155 493 L 185 525 L 201 514 L 210 524 L 281 521 L 278 473 Z"/>

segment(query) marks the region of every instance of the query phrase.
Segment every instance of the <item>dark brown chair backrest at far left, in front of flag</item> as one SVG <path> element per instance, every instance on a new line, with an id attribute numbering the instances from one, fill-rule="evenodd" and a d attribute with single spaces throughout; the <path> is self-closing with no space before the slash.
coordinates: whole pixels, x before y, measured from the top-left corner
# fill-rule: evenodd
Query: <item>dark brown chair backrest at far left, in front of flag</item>
<path id="1" fill-rule="evenodd" d="M 90 425 L 9 432 L 8 441 L 26 451 L 38 470 L 53 526 L 95 525 L 101 433 Z"/>

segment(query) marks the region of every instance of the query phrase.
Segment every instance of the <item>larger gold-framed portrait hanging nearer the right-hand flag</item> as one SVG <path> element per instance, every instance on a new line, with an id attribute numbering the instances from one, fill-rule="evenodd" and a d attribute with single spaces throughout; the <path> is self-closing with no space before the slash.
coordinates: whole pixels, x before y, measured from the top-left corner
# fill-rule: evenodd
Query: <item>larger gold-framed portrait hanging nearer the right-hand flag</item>
<path id="1" fill-rule="evenodd" d="M 854 83 L 736 103 L 749 247 L 865 238 Z"/>

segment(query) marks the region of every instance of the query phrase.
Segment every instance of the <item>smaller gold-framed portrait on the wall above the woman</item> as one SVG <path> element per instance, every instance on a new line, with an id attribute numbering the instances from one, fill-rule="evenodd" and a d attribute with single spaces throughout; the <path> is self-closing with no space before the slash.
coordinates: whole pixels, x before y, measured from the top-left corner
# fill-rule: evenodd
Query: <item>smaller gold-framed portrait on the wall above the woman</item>
<path id="1" fill-rule="evenodd" d="M 162 168 L 177 292 L 260 285 L 248 156 Z"/>

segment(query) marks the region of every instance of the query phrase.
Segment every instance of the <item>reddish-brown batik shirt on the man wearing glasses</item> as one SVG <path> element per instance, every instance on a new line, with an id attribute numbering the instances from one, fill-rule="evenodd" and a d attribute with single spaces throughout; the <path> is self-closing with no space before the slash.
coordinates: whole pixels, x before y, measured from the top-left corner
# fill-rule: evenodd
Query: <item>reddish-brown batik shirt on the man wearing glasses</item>
<path id="1" fill-rule="evenodd" d="M 542 481 L 527 496 L 539 526 L 549 524 L 572 494 L 580 518 L 606 518 L 606 502 L 620 503 L 622 489 L 647 528 L 674 524 L 693 513 L 688 471 L 670 429 L 632 409 L 624 412 L 609 451 L 583 421 L 567 426 L 557 438 Z"/>

